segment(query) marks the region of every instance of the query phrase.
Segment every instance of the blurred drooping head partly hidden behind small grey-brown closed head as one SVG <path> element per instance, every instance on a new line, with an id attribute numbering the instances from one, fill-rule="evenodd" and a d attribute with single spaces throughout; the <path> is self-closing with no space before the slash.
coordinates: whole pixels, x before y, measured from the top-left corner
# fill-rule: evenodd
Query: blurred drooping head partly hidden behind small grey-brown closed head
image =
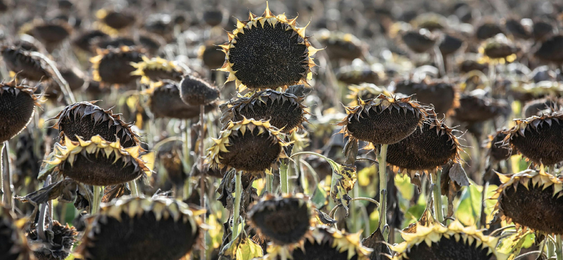
<path id="1" fill-rule="evenodd" d="M 177 119 L 191 119 L 199 116 L 199 105 L 187 105 L 180 98 L 177 82 L 164 80 L 151 83 L 151 88 L 145 91 L 149 95 L 148 108 L 155 117 L 170 117 Z M 205 112 L 217 108 L 215 103 L 205 105 Z"/>

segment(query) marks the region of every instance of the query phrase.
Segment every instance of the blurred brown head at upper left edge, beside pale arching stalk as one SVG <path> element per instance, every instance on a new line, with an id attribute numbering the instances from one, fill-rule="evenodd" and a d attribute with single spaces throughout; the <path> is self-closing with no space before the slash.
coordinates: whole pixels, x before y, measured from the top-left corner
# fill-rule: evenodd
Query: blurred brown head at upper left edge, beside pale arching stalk
<path id="1" fill-rule="evenodd" d="M 8 70 L 17 73 L 18 78 L 34 82 L 51 78 L 51 73 L 47 71 L 42 60 L 31 56 L 29 51 L 21 47 L 2 46 L 0 53 Z"/>

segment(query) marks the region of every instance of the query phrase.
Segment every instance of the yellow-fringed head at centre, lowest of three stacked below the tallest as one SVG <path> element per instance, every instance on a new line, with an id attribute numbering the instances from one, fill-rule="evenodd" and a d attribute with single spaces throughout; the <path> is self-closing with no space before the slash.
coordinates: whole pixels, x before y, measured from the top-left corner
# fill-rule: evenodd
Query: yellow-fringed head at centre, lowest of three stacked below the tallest
<path id="1" fill-rule="evenodd" d="M 280 158 L 287 157 L 281 131 L 269 121 L 247 119 L 229 122 L 227 127 L 213 138 L 207 160 L 215 168 L 234 168 L 249 174 L 262 176 L 269 173 Z"/>

